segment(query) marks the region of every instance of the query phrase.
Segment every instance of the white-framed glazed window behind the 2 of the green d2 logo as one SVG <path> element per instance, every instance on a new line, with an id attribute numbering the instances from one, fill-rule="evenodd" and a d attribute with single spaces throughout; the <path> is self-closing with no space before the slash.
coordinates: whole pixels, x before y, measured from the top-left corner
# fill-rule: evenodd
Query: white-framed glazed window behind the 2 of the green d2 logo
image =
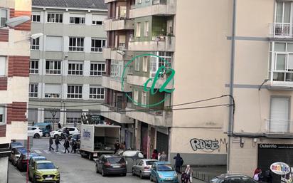
<path id="1" fill-rule="evenodd" d="M 156 75 L 156 71 L 161 67 L 161 66 L 165 66 L 166 69 L 171 67 L 171 59 L 172 59 L 172 52 L 164 52 L 164 51 L 158 51 L 158 52 L 153 52 L 152 54 L 156 55 L 156 56 L 160 56 L 161 58 L 157 58 L 152 56 L 151 57 L 151 77 L 154 78 L 154 76 Z M 159 77 L 160 78 L 164 78 L 164 70 L 161 71 Z"/>

